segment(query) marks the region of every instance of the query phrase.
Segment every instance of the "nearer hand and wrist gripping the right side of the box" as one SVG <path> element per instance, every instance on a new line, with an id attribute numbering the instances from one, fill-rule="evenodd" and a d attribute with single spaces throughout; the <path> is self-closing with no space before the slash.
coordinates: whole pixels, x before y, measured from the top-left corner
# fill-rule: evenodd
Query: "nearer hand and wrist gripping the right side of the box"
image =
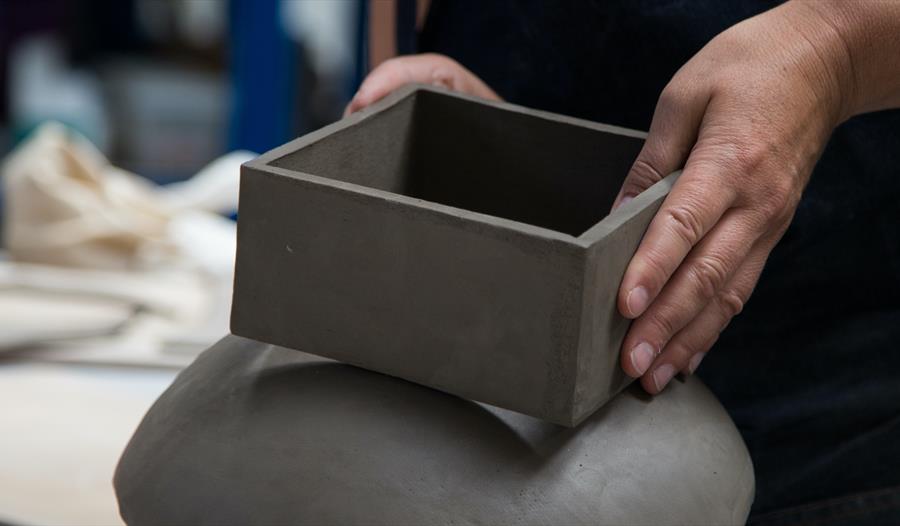
<path id="1" fill-rule="evenodd" d="M 832 129 L 900 103 L 898 31 L 900 2 L 788 2 L 666 86 L 616 200 L 684 167 L 619 290 L 635 319 L 622 367 L 648 392 L 692 373 L 741 311 Z"/>

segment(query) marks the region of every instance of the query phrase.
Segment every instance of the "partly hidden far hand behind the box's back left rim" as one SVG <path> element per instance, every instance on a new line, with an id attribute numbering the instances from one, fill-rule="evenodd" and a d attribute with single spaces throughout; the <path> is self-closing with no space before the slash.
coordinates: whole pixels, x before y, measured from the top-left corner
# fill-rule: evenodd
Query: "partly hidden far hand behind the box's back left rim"
<path id="1" fill-rule="evenodd" d="M 459 62 L 444 55 L 424 53 L 382 62 L 363 81 L 344 110 L 344 115 L 359 111 L 404 84 L 414 82 L 433 84 L 483 99 L 500 100 L 494 90 Z"/>

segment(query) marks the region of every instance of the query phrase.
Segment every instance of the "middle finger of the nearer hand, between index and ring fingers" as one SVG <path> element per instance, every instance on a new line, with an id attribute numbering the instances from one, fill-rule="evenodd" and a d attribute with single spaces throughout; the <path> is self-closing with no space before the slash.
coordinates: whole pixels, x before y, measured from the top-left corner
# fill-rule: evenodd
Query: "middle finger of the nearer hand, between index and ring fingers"
<path id="1" fill-rule="evenodd" d="M 669 340 L 715 301 L 744 263 L 760 227 L 748 213 L 731 209 L 697 244 L 622 343 L 622 367 L 637 378 Z"/>

